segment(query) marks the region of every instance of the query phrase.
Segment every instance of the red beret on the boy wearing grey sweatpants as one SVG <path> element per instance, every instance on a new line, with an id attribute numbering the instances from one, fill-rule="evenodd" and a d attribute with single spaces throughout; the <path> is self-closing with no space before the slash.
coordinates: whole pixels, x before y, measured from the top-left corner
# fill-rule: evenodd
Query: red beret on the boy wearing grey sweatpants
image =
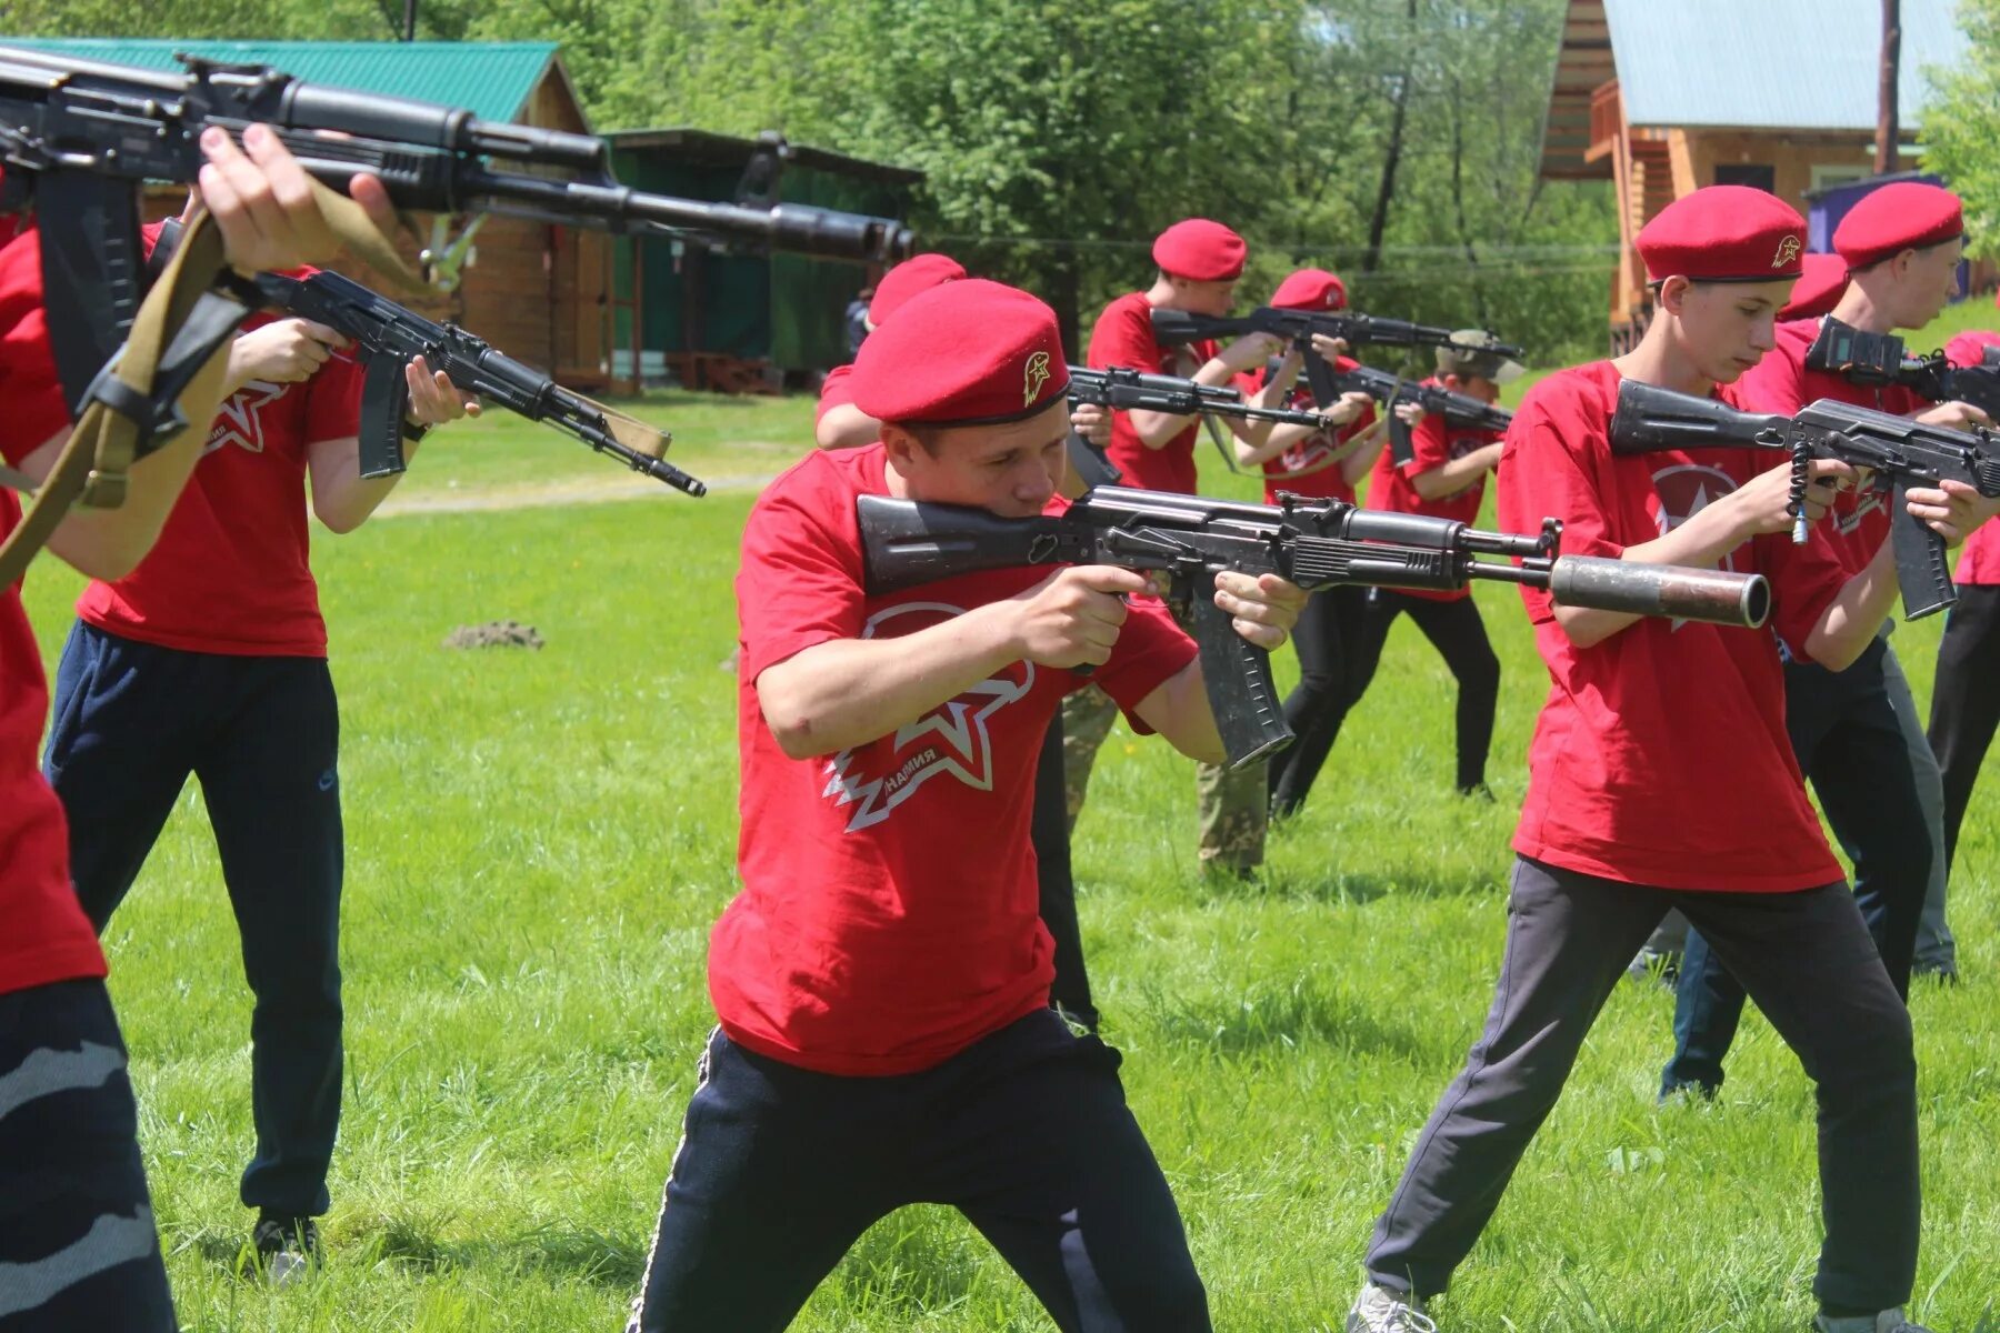
<path id="1" fill-rule="evenodd" d="M 1636 242 L 1652 282 L 1674 274 L 1696 282 L 1782 282 L 1798 278 L 1806 220 L 1776 194 L 1706 186 L 1662 208 Z"/>

